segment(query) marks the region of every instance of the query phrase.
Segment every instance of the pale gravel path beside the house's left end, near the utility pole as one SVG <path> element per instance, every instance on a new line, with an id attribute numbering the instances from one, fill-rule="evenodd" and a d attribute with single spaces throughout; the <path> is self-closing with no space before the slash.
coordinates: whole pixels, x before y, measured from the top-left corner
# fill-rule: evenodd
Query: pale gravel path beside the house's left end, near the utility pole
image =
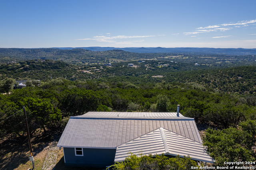
<path id="1" fill-rule="evenodd" d="M 54 141 L 50 145 L 50 148 L 46 154 L 42 170 L 54 170 L 57 163 L 58 157 L 58 147 L 56 146 L 58 142 Z"/>

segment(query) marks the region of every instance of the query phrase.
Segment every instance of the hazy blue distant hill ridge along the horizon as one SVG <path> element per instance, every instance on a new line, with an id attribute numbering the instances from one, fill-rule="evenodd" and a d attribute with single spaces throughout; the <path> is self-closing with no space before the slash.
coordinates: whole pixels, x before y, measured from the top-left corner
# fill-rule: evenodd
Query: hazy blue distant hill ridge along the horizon
<path id="1" fill-rule="evenodd" d="M 72 47 L 54 47 L 58 49 L 74 49 Z M 194 48 L 194 47 L 179 47 L 179 48 L 163 48 L 163 47 L 75 47 L 88 49 L 91 51 L 108 51 L 113 49 L 121 49 L 133 53 L 201 53 L 201 54 L 224 54 L 224 55 L 256 55 L 256 48 Z"/>

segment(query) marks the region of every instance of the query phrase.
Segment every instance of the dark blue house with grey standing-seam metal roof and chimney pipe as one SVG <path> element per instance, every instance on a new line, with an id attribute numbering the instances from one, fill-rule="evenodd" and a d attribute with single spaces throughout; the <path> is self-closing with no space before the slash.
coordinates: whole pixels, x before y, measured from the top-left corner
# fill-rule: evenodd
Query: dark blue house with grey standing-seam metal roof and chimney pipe
<path id="1" fill-rule="evenodd" d="M 63 148 L 65 166 L 106 168 L 124 161 L 128 152 L 141 151 L 214 162 L 194 119 L 179 112 L 88 112 L 70 117 L 57 146 Z"/>

